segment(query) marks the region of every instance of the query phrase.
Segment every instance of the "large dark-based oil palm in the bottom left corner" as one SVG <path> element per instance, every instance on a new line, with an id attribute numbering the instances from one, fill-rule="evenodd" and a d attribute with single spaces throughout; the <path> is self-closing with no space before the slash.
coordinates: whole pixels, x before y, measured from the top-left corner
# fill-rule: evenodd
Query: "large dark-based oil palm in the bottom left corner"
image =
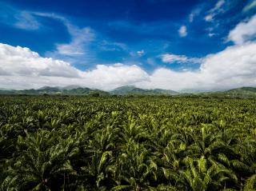
<path id="1" fill-rule="evenodd" d="M 9 176 L 2 189 L 59 190 L 65 187 L 66 175 L 76 173 L 69 160 L 77 152 L 75 145 L 73 139 L 56 140 L 54 133 L 46 130 L 19 137 L 21 154 L 8 170 Z"/>

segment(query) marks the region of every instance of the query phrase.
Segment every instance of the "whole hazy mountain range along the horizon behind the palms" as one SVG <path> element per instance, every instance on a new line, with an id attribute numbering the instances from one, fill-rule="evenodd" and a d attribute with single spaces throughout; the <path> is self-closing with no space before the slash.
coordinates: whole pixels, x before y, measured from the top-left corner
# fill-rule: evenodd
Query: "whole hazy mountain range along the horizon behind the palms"
<path id="1" fill-rule="evenodd" d="M 98 96 L 106 95 L 178 95 L 178 94 L 226 94 L 226 95 L 245 95 L 245 96 L 256 96 L 256 87 L 241 87 L 232 90 L 225 91 L 181 91 L 177 92 L 174 90 L 162 90 L 162 89 L 141 89 L 136 86 L 121 86 L 114 90 L 103 91 L 97 89 L 90 89 L 80 86 L 65 86 L 65 87 L 50 87 L 43 86 L 37 90 L 5 90 L 0 89 L 0 94 L 62 94 L 62 95 L 93 95 L 98 94 Z"/>

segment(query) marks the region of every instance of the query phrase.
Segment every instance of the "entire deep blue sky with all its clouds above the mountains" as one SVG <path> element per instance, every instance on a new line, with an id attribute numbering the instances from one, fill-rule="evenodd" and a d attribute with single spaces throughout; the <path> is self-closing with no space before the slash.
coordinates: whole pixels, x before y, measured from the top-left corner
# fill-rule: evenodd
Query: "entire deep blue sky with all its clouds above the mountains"
<path id="1" fill-rule="evenodd" d="M 256 0 L 0 0 L 0 89 L 256 86 Z"/>

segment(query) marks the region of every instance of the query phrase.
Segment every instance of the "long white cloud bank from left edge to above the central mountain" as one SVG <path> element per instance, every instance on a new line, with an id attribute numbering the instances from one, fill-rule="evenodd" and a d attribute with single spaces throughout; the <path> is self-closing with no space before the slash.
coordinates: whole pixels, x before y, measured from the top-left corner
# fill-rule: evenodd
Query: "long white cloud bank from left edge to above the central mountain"
<path id="1" fill-rule="evenodd" d="M 1 87 L 9 89 L 79 85 L 110 90 L 149 78 L 144 70 L 135 65 L 98 65 L 93 70 L 82 71 L 68 62 L 42 58 L 28 48 L 2 43 L 0 60 Z"/>

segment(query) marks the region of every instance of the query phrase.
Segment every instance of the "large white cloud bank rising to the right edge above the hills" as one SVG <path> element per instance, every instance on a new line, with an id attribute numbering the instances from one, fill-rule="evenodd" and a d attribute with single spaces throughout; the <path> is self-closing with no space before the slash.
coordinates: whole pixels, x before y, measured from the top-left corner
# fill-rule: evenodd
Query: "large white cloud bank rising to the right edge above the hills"
<path id="1" fill-rule="evenodd" d="M 226 90 L 256 86 L 256 43 L 230 46 L 203 58 L 198 71 L 155 70 L 140 86 L 170 90 Z"/>

